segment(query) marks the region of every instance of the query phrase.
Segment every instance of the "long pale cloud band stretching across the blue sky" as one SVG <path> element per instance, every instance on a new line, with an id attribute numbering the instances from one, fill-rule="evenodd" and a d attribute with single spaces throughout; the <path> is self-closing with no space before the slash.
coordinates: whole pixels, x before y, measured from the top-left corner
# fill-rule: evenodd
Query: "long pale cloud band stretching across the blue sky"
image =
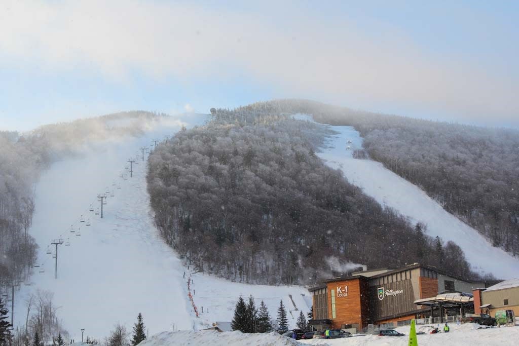
<path id="1" fill-rule="evenodd" d="M 519 113 L 517 82 L 487 68 L 433 58 L 391 28 L 366 33 L 347 18 L 326 22 L 281 6 L 290 7 L 274 11 L 290 17 L 189 2 L 7 1 L 0 51 L 11 63 L 95 68 L 121 82 L 134 71 L 157 81 L 234 77 L 335 103 L 376 100 L 510 119 Z"/>

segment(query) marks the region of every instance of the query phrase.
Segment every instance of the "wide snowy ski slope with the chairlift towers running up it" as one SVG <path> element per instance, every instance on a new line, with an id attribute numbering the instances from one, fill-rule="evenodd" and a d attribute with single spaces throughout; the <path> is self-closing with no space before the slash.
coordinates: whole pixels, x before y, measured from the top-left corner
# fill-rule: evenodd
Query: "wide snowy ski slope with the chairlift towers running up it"
<path id="1" fill-rule="evenodd" d="M 54 294 L 58 316 L 76 341 L 82 328 L 85 339 L 98 340 L 107 337 L 116 323 L 131 331 L 139 313 L 149 335 L 230 322 L 239 295 L 252 294 L 258 306 L 264 299 L 272 317 L 282 299 L 288 310 L 294 310 L 288 316 L 292 326 L 299 310 L 305 314 L 310 310 L 311 297 L 304 287 L 247 285 L 192 274 L 159 238 L 146 191 L 146 165 L 138 149 L 149 147 L 153 139 L 171 136 L 183 124 L 187 128 L 203 124 L 206 117 L 184 115 L 143 137 L 98 143 L 80 158 L 54 163 L 42 175 L 30 229 L 40 246 L 37 264 L 41 267 L 34 268 L 30 285 L 22 284 L 15 295 L 15 327 L 25 324 L 25 301 L 38 289 Z M 125 168 L 130 158 L 135 160 L 133 177 Z M 105 192 L 108 197 L 100 218 L 95 215 L 100 206 L 97 196 Z M 70 243 L 58 245 L 57 279 L 54 245 L 47 253 L 53 239 Z M 42 268 L 44 272 L 39 272 Z M 192 280 L 189 290 L 188 278 Z"/>

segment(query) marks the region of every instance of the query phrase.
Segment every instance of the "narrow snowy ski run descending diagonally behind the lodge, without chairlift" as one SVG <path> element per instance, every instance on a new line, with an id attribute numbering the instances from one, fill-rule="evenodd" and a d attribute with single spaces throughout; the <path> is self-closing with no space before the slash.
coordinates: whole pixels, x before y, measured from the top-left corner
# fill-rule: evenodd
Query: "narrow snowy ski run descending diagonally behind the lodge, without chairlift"
<path id="1" fill-rule="evenodd" d="M 295 118 L 313 121 L 305 115 Z M 519 258 L 491 246 L 479 232 L 446 212 L 416 185 L 386 169 L 380 162 L 354 159 L 353 150 L 362 149 L 363 139 L 353 127 L 331 126 L 331 129 L 339 134 L 333 135 L 317 155 L 330 167 L 342 170 L 351 184 L 361 187 L 380 204 L 408 217 L 411 223 L 424 223 L 429 236 L 439 236 L 444 242 L 454 241 L 462 248 L 472 270 L 493 273 L 499 279 L 519 275 Z M 351 148 L 347 149 L 348 146 Z"/>

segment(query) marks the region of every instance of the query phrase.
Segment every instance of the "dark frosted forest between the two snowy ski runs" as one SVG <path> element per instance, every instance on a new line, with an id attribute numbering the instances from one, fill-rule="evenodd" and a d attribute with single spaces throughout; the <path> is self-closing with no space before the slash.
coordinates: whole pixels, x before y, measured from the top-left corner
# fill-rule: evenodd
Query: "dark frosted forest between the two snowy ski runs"
<path id="1" fill-rule="evenodd" d="M 329 130 L 283 113 L 269 103 L 218 109 L 149 157 L 155 222 L 181 256 L 252 283 L 315 283 L 333 274 L 330 258 L 473 276 L 456 244 L 426 236 L 315 155 Z"/>

